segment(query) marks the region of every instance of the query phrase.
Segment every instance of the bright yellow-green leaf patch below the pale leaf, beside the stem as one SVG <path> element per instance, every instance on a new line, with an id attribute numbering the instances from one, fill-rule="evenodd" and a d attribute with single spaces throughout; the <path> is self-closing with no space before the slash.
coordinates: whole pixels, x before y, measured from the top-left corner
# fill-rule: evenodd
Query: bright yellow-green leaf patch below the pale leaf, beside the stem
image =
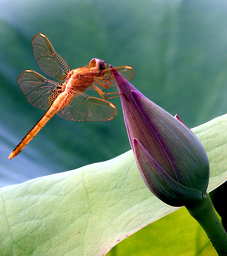
<path id="1" fill-rule="evenodd" d="M 217 256 L 186 208 L 168 214 L 117 244 L 107 256 Z"/>

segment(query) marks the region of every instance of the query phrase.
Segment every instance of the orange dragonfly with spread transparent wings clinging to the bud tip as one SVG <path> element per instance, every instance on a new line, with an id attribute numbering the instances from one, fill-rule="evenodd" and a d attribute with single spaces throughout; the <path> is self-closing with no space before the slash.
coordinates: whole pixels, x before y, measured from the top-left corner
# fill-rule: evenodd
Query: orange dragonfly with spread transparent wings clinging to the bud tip
<path id="1" fill-rule="evenodd" d="M 105 93 L 104 89 L 116 86 L 112 68 L 100 59 L 92 59 L 89 66 L 69 70 L 66 61 L 54 50 L 45 34 L 39 33 L 33 37 L 32 48 L 38 67 L 46 77 L 32 70 L 25 70 L 18 77 L 20 89 L 28 102 L 39 109 L 48 109 L 43 117 L 28 132 L 8 159 L 16 157 L 30 140 L 55 114 L 61 118 L 77 122 L 109 121 L 116 116 L 116 107 L 106 101 L 119 96 L 118 92 Z M 116 67 L 126 80 L 134 76 L 130 66 Z M 85 93 L 95 90 L 101 97 L 91 97 Z M 117 94 L 106 98 L 106 95 Z"/>

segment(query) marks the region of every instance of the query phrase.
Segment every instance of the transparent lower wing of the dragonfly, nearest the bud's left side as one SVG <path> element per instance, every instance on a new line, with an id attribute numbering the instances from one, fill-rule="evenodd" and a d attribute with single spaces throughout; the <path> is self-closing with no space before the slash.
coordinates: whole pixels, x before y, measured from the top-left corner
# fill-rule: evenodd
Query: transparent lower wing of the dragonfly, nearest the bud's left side
<path id="1" fill-rule="evenodd" d="M 115 118 L 116 107 L 111 102 L 86 93 L 73 97 L 69 105 L 57 112 L 61 118 L 77 122 L 104 122 Z"/>

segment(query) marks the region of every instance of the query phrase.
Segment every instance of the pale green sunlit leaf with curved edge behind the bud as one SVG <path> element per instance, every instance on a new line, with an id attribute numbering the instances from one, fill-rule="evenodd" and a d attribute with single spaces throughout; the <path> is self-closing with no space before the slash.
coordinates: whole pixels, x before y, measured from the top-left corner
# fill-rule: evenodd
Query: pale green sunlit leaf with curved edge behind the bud
<path id="1" fill-rule="evenodd" d="M 211 162 L 209 191 L 227 180 L 227 115 L 193 129 Z M 150 193 L 132 151 L 1 190 L 0 254 L 105 255 L 176 210 Z"/>

